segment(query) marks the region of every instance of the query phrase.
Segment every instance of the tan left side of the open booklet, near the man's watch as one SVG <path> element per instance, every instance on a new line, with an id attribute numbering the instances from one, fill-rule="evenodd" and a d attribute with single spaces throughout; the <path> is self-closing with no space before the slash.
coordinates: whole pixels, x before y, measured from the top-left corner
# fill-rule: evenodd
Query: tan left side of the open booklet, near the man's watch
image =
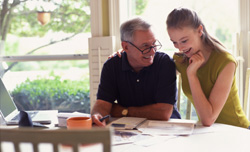
<path id="1" fill-rule="evenodd" d="M 146 118 L 138 117 L 122 117 L 110 123 L 110 126 L 116 130 L 119 129 L 136 129 L 140 124 L 142 124 Z"/>

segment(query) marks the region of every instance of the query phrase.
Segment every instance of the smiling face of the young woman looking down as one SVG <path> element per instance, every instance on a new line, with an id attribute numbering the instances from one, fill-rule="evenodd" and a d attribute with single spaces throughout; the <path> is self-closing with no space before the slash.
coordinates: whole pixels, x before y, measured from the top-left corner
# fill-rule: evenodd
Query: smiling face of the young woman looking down
<path id="1" fill-rule="evenodd" d="M 197 29 L 191 27 L 169 28 L 168 35 L 174 47 L 188 58 L 201 49 L 202 26 Z"/>

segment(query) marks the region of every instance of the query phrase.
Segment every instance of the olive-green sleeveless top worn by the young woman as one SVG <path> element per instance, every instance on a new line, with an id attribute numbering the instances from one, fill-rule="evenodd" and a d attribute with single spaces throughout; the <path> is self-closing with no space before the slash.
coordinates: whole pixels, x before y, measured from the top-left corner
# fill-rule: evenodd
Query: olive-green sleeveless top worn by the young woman
<path id="1" fill-rule="evenodd" d="M 177 70 L 181 73 L 183 92 L 193 103 L 186 73 L 188 61 L 183 62 L 182 55 L 175 54 L 173 58 L 175 60 Z M 197 71 L 197 77 L 207 99 L 209 98 L 217 77 L 229 62 L 234 62 L 237 65 L 231 54 L 227 52 L 212 51 L 207 63 Z M 235 76 L 227 101 L 215 122 L 244 128 L 247 128 L 250 125 L 240 105 Z"/>

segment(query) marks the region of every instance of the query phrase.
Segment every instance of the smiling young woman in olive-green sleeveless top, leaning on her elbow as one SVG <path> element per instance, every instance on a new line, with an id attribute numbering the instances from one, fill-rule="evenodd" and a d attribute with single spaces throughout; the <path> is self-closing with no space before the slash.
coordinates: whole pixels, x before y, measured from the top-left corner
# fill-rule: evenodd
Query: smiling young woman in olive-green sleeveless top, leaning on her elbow
<path id="1" fill-rule="evenodd" d="M 237 62 L 211 37 L 197 14 L 174 9 L 167 17 L 170 40 L 180 53 L 174 55 L 184 94 L 193 103 L 203 125 L 214 122 L 248 128 L 235 81 Z"/>

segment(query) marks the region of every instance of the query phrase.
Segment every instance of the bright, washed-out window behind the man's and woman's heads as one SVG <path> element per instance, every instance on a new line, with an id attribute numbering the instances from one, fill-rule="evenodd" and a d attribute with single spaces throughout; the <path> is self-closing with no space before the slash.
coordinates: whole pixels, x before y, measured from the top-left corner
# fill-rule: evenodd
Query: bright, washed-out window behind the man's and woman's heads
<path id="1" fill-rule="evenodd" d="M 225 7 L 227 4 L 227 7 Z M 235 42 L 233 37 L 238 32 L 238 1 L 227 0 L 131 0 L 128 3 L 130 14 L 128 18 L 141 16 L 148 20 L 154 28 L 157 39 L 160 40 L 163 47 L 161 51 L 173 56 L 178 51 L 174 48 L 166 31 L 167 15 L 178 7 L 188 7 L 197 12 L 206 26 L 207 31 L 212 36 L 218 38 L 227 48 L 235 54 Z M 213 10 L 213 11 L 211 11 Z M 230 17 L 225 17 L 230 14 Z M 126 20 L 123 18 L 123 20 Z M 180 113 L 185 118 L 187 98 L 181 95 Z M 192 106 L 192 119 L 197 119 L 194 107 Z"/>

